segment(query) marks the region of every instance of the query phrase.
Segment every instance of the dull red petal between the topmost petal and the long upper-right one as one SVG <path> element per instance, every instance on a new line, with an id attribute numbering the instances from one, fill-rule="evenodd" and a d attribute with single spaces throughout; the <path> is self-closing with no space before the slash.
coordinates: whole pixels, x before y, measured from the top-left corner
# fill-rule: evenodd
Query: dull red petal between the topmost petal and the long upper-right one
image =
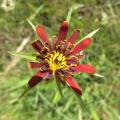
<path id="1" fill-rule="evenodd" d="M 72 44 L 74 44 L 76 42 L 76 40 L 79 38 L 80 36 L 80 30 L 77 29 L 73 32 L 73 34 L 68 38 L 67 42 L 70 42 Z"/>

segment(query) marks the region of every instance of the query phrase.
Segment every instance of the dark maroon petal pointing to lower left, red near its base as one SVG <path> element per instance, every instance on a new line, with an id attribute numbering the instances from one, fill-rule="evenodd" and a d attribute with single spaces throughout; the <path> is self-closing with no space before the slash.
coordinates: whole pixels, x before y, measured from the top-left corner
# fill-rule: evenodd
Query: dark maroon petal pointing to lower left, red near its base
<path id="1" fill-rule="evenodd" d="M 48 71 L 39 71 L 36 75 L 34 75 L 29 81 L 28 85 L 30 88 L 36 86 L 41 80 L 44 79 L 45 75 L 47 75 Z"/>

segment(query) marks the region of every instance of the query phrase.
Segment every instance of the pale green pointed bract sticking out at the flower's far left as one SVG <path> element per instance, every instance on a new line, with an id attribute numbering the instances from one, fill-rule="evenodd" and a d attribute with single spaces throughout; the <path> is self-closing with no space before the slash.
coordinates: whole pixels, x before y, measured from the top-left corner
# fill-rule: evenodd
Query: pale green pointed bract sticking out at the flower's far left
<path id="1" fill-rule="evenodd" d="M 28 59 L 28 60 L 31 60 L 31 61 L 37 61 L 36 60 L 36 56 L 33 56 L 33 55 L 27 55 L 25 53 L 22 53 L 22 52 L 9 52 L 11 55 L 14 55 L 14 56 L 17 56 L 17 57 L 21 57 L 21 58 L 24 58 L 24 59 Z"/>

